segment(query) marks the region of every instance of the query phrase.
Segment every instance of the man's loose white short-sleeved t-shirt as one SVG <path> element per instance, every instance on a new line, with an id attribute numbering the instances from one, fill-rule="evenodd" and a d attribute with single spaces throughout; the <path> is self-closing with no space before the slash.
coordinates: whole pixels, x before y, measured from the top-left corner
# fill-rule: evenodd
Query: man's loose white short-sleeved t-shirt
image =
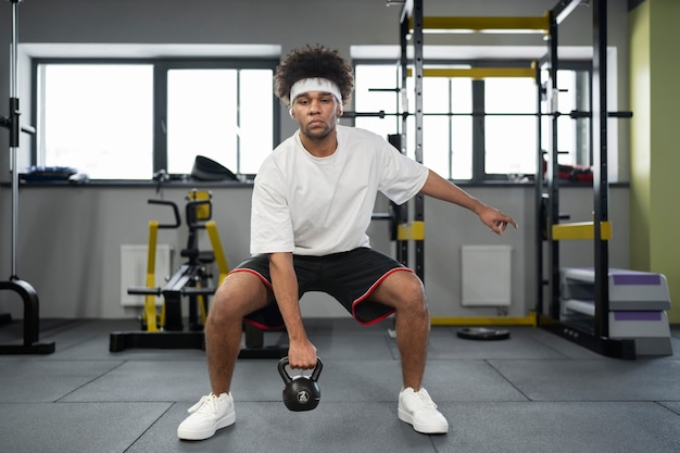
<path id="1" fill-rule="evenodd" d="M 337 130 L 338 148 L 328 158 L 310 154 L 298 131 L 265 159 L 253 189 L 252 254 L 322 256 L 369 247 L 377 192 L 403 204 L 425 185 L 429 171 L 380 136 Z"/>

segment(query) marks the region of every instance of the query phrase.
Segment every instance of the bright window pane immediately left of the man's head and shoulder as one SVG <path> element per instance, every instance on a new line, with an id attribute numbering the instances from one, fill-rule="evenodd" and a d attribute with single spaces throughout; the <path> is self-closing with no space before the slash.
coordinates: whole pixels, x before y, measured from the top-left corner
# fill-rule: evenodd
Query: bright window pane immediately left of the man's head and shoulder
<path id="1" fill-rule="evenodd" d="M 269 70 L 168 71 L 168 173 L 189 173 L 198 154 L 235 173 L 256 173 L 273 149 L 267 86 Z"/>

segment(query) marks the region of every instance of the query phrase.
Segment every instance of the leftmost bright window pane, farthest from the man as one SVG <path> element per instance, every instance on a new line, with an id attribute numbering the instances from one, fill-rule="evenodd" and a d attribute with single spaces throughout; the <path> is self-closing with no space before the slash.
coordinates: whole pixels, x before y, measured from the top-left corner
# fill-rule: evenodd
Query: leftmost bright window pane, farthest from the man
<path id="1" fill-rule="evenodd" d="M 151 178 L 153 66 L 49 64 L 39 74 L 39 165 L 92 179 Z"/>

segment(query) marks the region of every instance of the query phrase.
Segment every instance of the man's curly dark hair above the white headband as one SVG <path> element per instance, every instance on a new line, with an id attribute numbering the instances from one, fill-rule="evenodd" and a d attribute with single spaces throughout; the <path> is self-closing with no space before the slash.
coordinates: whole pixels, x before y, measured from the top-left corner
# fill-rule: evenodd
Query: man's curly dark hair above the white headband
<path id="1" fill-rule="evenodd" d="M 290 105 L 290 87 L 303 78 L 323 77 L 333 81 L 342 95 L 342 103 L 350 101 L 354 89 L 352 66 L 337 50 L 316 45 L 292 50 L 276 68 L 276 96 Z"/>

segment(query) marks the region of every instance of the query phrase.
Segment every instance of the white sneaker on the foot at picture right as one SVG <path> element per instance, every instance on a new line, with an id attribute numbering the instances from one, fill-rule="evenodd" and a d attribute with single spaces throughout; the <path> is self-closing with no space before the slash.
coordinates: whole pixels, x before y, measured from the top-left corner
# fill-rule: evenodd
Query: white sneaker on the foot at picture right
<path id="1" fill-rule="evenodd" d="M 399 419 L 425 435 L 443 435 L 449 431 L 449 421 L 439 411 L 427 390 L 417 392 L 406 387 L 399 393 Z"/>

